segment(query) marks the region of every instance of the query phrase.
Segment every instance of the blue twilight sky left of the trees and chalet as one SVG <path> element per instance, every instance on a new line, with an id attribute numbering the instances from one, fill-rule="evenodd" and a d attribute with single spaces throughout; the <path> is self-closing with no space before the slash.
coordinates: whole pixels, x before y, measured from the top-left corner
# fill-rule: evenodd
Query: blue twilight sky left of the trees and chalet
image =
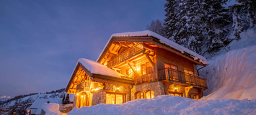
<path id="1" fill-rule="evenodd" d="M 110 35 L 164 20 L 164 0 L 0 1 L 0 95 L 66 88 L 79 58 Z"/>

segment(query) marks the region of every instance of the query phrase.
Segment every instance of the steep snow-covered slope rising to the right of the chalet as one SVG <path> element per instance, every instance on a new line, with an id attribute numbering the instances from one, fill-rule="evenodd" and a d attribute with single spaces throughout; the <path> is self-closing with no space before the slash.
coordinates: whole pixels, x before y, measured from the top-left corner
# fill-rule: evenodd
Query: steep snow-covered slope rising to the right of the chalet
<path id="1" fill-rule="evenodd" d="M 221 50 L 199 71 L 208 83 L 204 98 L 256 98 L 256 28 L 241 37 L 227 46 L 229 52 Z"/>

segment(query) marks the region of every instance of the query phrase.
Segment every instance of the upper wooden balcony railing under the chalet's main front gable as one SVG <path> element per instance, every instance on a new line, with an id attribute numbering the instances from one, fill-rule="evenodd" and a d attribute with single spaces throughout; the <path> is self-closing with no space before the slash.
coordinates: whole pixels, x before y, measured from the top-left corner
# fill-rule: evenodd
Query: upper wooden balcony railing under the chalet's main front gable
<path id="1" fill-rule="evenodd" d="M 120 53 L 117 57 L 114 57 L 112 60 L 108 61 L 107 67 L 112 67 L 113 65 L 118 65 L 119 63 L 123 63 L 125 60 L 128 60 L 130 57 L 139 54 L 144 51 L 144 45 L 138 43 L 137 45 L 133 45 L 128 48 L 124 52 Z"/>

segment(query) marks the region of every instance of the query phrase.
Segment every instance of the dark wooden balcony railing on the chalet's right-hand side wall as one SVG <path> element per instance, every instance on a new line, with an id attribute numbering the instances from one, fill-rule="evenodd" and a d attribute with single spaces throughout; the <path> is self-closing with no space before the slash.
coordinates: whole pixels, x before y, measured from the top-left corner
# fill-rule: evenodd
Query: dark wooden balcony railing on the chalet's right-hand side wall
<path id="1" fill-rule="evenodd" d="M 206 78 L 199 77 L 198 75 L 193 75 L 190 73 L 185 73 L 179 70 L 174 70 L 171 68 L 165 68 L 164 70 L 159 70 L 160 80 L 172 80 L 178 83 L 189 84 L 191 86 L 200 86 L 203 88 L 207 87 Z"/>

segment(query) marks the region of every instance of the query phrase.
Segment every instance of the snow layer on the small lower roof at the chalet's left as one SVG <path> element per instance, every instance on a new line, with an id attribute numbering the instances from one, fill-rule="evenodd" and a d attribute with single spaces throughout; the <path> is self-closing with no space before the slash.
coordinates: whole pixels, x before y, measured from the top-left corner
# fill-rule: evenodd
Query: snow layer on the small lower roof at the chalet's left
<path id="1" fill-rule="evenodd" d="M 84 65 L 84 67 L 87 68 L 87 70 L 89 70 L 91 73 L 121 78 L 119 73 L 115 70 L 111 70 L 110 68 L 107 68 L 107 66 L 97 63 L 93 60 L 80 58 L 78 62 Z"/>

